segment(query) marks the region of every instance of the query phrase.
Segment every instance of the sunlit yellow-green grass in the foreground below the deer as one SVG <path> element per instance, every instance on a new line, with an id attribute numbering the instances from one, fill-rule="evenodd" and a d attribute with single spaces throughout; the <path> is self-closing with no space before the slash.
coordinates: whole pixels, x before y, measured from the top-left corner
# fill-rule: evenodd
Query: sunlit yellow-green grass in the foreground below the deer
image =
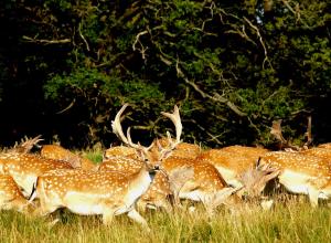
<path id="1" fill-rule="evenodd" d="M 274 210 L 221 209 L 209 218 L 197 207 L 194 213 L 178 211 L 142 213 L 151 232 L 126 215 L 111 225 L 100 216 L 81 216 L 67 211 L 44 219 L 13 211 L 0 214 L 0 242 L 331 242 L 331 211 L 307 203 L 278 204 Z M 50 226 L 52 218 L 61 218 Z"/>

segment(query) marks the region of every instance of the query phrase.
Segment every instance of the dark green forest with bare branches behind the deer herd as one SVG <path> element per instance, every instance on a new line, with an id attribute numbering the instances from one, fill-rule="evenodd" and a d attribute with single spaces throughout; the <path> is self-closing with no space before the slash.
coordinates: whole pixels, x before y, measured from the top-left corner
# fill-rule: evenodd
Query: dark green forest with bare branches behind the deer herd
<path id="1" fill-rule="evenodd" d="M 180 107 L 183 140 L 298 146 L 331 137 L 328 0 L 2 0 L 0 147 L 42 135 L 68 148 L 149 144 Z"/>

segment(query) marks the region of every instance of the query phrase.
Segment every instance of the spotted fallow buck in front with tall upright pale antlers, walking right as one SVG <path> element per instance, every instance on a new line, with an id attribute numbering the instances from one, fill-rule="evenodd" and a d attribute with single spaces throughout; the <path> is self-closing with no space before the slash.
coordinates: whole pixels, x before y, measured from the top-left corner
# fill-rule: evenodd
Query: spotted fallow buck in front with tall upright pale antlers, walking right
<path id="1" fill-rule="evenodd" d="M 136 211 L 135 203 L 143 194 L 153 180 L 160 161 L 151 165 L 146 159 L 147 148 L 134 144 L 129 129 L 124 135 L 120 116 L 128 105 L 125 104 L 117 113 L 111 124 L 113 131 L 129 147 L 141 155 L 142 167 L 127 176 L 111 170 L 53 170 L 39 177 L 31 200 L 39 196 L 41 214 L 49 214 L 58 208 L 67 208 L 78 214 L 102 214 L 104 223 L 110 223 L 114 215 L 128 213 L 128 216 L 147 226 L 146 220 Z M 180 139 L 181 120 L 175 106 L 173 114 L 162 113 L 171 118 L 177 127 L 177 138 Z M 175 147 L 172 144 L 171 149 Z M 163 156 L 169 151 L 164 150 Z"/>

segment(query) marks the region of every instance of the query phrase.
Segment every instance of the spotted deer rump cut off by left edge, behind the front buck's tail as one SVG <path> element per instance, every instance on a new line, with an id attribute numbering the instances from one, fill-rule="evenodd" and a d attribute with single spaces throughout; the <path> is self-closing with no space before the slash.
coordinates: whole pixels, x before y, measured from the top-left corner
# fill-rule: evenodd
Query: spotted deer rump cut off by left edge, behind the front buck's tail
<path id="1" fill-rule="evenodd" d="M 28 212 L 29 204 L 12 177 L 0 175 L 0 210 Z"/>

